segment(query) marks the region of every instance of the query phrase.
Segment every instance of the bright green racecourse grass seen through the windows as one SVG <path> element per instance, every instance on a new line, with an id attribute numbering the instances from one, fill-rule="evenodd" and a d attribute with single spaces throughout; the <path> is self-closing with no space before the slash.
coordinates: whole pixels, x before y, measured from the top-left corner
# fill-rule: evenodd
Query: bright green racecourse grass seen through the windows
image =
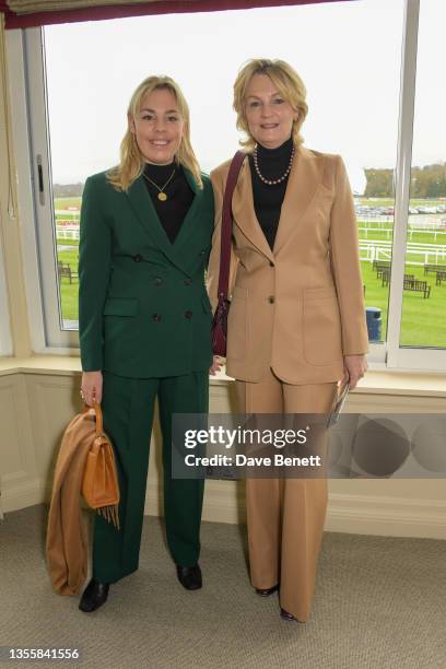
<path id="1" fill-rule="evenodd" d="M 364 203 L 371 200 L 363 199 Z M 377 200 L 375 200 L 376 202 Z M 435 206 L 438 201 L 429 202 L 426 200 L 412 200 L 411 204 Z M 80 198 L 59 198 L 55 202 L 58 210 L 80 204 Z M 379 199 L 379 206 L 391 206 L 391 200 Z M 365 223 L 359 222 L 360 227 Z M 360 231 L 361 239 L 390 240 L 391 224 L 388 230 L 364 230 Z M 409 240 L 416 244 L 438 244 L 446 245 L 446 235 L 434 232 L 409 234 Z M 58 245 L 72 247 L 72 250 L 59 250 L 58 259 L 70 265 L 72 271 L 78 272 L 78 242 L 73 239 L 58 239 Z M 422 262 L 422 256 L 412 256 L 412 260 Z M 431 260 L 430 260 L 431 261 Z M 446 258 L 441 260 L 446 265 Z M 372 263 L 362 261 L 363 283 L 365 284 L 366 306 L 378 307 L 382 309 L 382 336 L 386 338 L 387 330 L 387 309 L 388 309 L 388 286 L 382 285 L 382 279 L 377 279 L 376 272 L 372 269 Z M 416 279 L 426 280 L 431 284 L 431 296 L 425 300 L 421 293 L 403 293 L 402 302 L 402 328 L 401 344 L 413 347 L 446 347 L 446 282 L 443 285 L 435 285 L 435 274 L 424 275 L 423 267 L 407 266 L 406 272 L 414 274 Z M 70 285 L 68 278 L 62 277 L 60 282 L 62 317 L 67 320 L 78 320 L 78 280 Z"/>

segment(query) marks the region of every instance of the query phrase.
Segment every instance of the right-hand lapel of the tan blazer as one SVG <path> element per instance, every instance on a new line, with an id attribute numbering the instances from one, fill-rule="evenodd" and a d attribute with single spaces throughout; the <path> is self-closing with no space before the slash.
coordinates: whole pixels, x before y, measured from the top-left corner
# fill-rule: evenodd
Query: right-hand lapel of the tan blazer
<path id="1" fill-rule="evenodd" d="M 298 220 L 306 212 L 317 187 L 322 180 L 322 167 L 324 159 L 319 159 L 304 146 L 297 149 L 280 212 L 274 255 L 290 239 L 296 230 Z"/>

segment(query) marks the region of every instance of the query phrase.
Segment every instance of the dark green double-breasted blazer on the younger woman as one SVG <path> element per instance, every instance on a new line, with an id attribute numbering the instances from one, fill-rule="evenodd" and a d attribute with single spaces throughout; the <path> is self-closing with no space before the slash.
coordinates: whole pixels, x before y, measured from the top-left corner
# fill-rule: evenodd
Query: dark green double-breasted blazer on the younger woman
<path id="1" fill-rule="evenodd" d="M 139 177 L 117 191 L 86 179 L 79 245 L 79 337 L 84 372 L 133 378 L 208 369 L 212 313 L 204 270 L 213 232 L 208 177 L 190 173 L 192 204 L 172 244 Z"/>

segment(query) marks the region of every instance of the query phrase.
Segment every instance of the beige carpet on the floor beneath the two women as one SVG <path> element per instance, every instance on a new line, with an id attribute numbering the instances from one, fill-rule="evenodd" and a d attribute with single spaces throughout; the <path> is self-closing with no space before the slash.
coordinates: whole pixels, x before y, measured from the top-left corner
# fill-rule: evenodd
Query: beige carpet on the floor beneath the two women
<path id="1" fill-rule="evenodd" d="M 204 587 L 176 580 L 160 523 L 146 518 L 140 571 L 85 614 L 50 587 L 46 507 L 0 523 L 0 646 L 80 647 L 82 661 L 2 667 L 445 669 L 446 542 L 326 533 L 313 615 L 282 621 L 249 586 L 245 530 L 204 523 Z"/>

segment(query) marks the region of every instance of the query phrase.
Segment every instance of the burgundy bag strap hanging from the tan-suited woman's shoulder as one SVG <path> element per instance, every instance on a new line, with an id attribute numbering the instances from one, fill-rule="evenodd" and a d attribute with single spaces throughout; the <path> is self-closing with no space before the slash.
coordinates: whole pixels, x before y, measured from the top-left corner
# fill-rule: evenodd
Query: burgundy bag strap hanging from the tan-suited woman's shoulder
<path id="1" fill-rule="evenodd" d="M 227 300 L 231 266 L 231 237 L 233 226 L 232 198 L 245 157 L 246 153 L 244 151 L 237 151 L 234 155 L 230 165 L 230 172 L 227 174 L 226 186 L 224 189 L 220 248 L 219 301 L 221 298 Z"/>

